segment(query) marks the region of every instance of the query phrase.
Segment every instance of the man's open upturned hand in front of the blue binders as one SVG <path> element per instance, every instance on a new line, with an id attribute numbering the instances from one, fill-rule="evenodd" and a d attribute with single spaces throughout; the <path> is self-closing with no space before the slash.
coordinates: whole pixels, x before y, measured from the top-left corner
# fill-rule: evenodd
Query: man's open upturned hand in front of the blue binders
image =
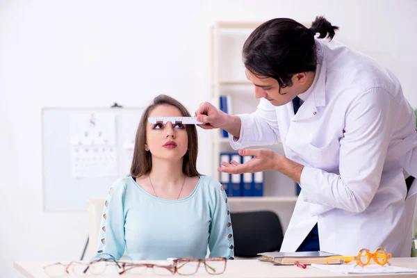
<path id="1" fill-rule="evenodd" d="M 223 161 L 222 166 L 218 168 L 219 172 L 229 174 L 256 173 L 266 170 L 275 170 L 279 159 L 282 157 L 275 154 L 271 149 L 239 149 L 241 156 L 254 156 L 250 161 L 243 164 L 237 161 L 231 161 L 230 164 Z"/>

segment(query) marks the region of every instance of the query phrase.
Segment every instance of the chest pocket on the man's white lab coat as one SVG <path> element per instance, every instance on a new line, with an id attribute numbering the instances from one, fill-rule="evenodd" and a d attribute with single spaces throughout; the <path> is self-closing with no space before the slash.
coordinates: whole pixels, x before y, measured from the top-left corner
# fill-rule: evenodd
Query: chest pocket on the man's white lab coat
<path id="1" fill-rule="evenodd" d="M 308 145 L 309 162 L 313 167 L 334 172 L 339 163 L 340 144 L 338 138 L 330 141 L 324 147 L 316 147 L 313 144 Z"/>

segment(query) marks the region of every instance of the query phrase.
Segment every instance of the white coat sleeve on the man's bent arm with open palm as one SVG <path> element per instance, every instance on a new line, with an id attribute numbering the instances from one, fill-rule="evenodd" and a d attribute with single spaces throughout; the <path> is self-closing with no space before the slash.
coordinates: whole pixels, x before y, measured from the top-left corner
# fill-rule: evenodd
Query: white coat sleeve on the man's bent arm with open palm
<path id="1" fill-rule="evenodd" d="M 395 102 L 386 90 L 372 88 L 352 103 L 340 140 L 340 174 L 304 167 L 300 183 L 304 202 L 354 213 L 369 206 L 395 126 Z"/>

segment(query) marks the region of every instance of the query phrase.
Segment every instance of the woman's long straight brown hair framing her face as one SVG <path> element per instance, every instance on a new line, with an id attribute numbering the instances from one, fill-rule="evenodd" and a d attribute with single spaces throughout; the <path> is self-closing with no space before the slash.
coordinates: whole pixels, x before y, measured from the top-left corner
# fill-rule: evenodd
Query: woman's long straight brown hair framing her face
<path id="1" fill-rule="evenodd" d="M 132 177 L 141 177 L 145 174 L 149 174 L 152 170 L 152 154 L 150 151 L 145 150 L 146 144 L 146 127 L 148 124 L 149 114 L 154 111 L 158 106 L 174 106 L 178 108 L 183 117 L 191 117 L 187 108 L 183 106 L 177 99 L 169 97 L 167 95 L 158 95 L 152 101 L 152 104 L 147 106 L 140 118 L 138 131 L 136 131 L 135 148 L 133 149 L 133 160 L 131 165 L 130 175 Z M 188 150 L 183 156 L 183 173 L 188 177 L 199 176 L 197 171 L 197 153 L 198 153 L 198 137 L 197 128 L 195 124 L 186 124 L 186 131 L 188 136 Z"/>

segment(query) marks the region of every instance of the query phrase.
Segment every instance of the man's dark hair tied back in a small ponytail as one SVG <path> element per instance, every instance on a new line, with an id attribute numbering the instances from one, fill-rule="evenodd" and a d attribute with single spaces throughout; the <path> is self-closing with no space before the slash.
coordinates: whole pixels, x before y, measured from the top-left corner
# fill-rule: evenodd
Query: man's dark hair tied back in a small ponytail
<path id="1" fill-rule="evenodd" d="M 276 79 L 280 89 L 291 86 L 293 74 L 316 71 L 316 33 L 320 33 L 320 39 L 332 40 L 336 30 L 338 26 L 322 16 L 316 17 L 311 28 L 289 18 L 271 19 L 247 38 L 243 63 L 259 78 Z"/>

